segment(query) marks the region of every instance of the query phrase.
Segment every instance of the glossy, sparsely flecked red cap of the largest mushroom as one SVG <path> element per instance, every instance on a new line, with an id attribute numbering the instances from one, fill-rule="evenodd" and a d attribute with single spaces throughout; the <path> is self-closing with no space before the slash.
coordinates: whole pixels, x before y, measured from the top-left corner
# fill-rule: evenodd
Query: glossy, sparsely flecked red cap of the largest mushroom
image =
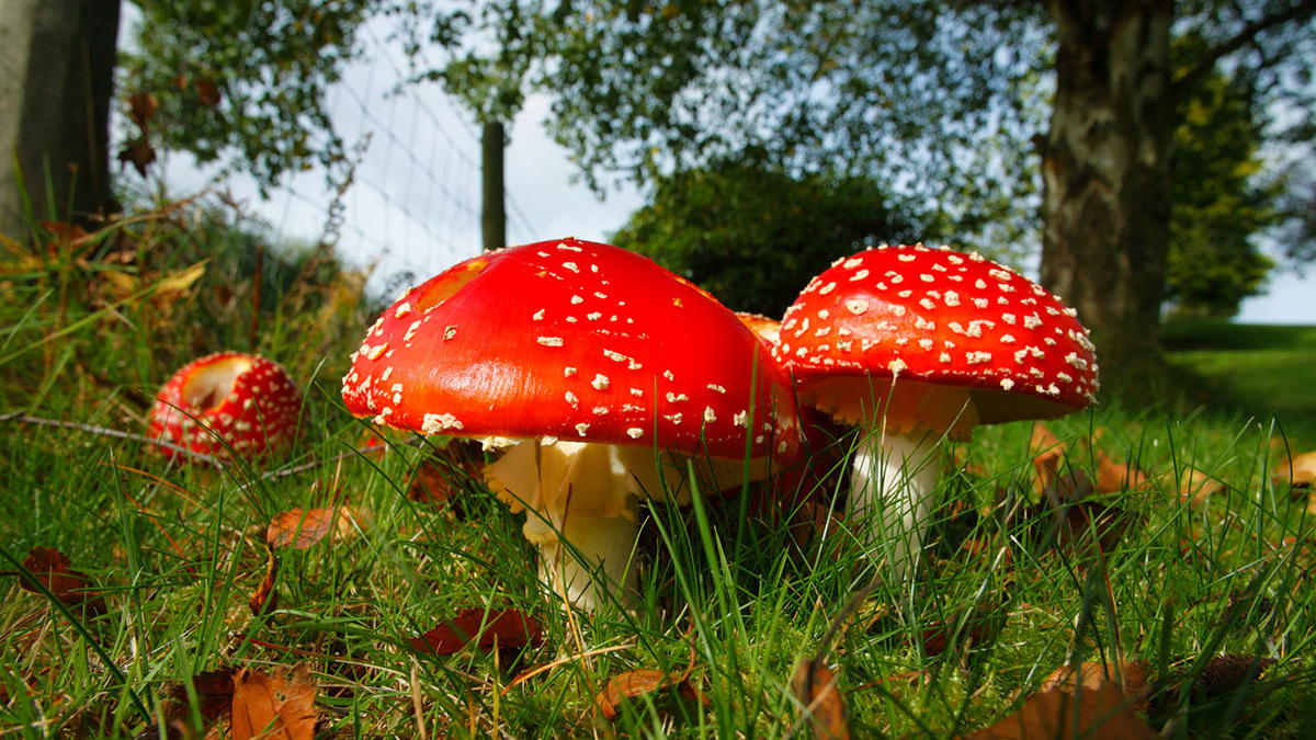
<path id="1" fill-rule="evenodd" d="M 376 423 L 741 458 L 799 450 L 767 348 L 638 254 L 566 238 L 467 259 L 407 291 L 353 354 L 342 396 Z M 753 388 L 753 391 L 751 391 Z"/>

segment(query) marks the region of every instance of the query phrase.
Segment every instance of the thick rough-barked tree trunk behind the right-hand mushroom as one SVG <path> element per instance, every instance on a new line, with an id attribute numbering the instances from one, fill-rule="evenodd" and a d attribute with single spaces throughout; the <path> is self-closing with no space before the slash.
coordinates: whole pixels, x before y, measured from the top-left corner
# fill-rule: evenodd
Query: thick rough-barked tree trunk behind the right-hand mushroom
<path id="1" fill-rule="evenodd" d="M 1171 0 L 1049 0 L 1059 46 L 1044 155 L 1042 284 L 1092 329 L 1107 388 L 1162 367 Z"/>

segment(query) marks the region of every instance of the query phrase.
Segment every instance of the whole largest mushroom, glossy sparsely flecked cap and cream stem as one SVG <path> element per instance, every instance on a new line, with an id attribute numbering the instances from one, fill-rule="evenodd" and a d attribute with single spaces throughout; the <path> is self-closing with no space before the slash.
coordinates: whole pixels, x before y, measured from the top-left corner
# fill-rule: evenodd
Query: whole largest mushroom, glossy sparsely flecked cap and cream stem
<path id="1" fill-rule="evenodd" d="M 367 332 L 343 400 L 379 424 L 505 448 L 484 470 L 541 573 L 592 608 L 636 586 L 640 499 L 738 486 L 799 452 L 790 381 L 688 280 L 574 238 L 467 259 Z M 601 582 L 600 582 L 601 581 Z"/>

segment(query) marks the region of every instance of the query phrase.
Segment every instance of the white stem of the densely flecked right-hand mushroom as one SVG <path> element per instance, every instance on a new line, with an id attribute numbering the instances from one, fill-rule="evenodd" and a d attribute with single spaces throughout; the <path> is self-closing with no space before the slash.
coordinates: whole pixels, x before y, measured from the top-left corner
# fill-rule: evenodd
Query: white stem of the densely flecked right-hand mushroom
<path id="1" fill-rule="evenodd" d="M 862 432 L 851 460 L 846 503 L 869 554 L 887 562 L 892 582 L 913 574 L 941 478 L 941 435 L 926 429 L 890 432 L 880 424 Z"/>

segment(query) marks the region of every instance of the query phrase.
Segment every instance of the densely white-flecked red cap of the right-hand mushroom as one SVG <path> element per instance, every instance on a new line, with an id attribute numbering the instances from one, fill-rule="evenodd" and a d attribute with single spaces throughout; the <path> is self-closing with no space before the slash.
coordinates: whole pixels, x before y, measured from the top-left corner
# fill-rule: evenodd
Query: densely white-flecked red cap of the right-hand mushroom
<path id="1" fill-rule="evenodd" d="M 978 254 L 879 246 L 837 259 L 786 311 L 778 358 L 801 382 L 871 375 L 1021 394 L 1059 415 L 1095 399 L 1088 332 L 1058 298 Z M 988 404 L 983 423 L 1005 421 Z M 1032 406 L 1029 408 L 1033 408 Z"/>

